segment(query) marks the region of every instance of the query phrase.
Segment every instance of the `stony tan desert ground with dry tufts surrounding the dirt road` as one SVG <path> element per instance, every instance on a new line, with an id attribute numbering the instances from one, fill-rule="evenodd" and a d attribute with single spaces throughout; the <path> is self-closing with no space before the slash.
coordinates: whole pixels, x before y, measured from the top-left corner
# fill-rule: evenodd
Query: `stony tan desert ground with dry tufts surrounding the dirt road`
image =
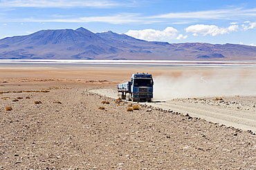
<path id="1" fill-rule="evenodd" d="M 179 76 L 212 69 L 1 65 L 0 168 L 256 169 L 251 131 L 144 104 L 127 111 L 130 103 L 89 92 L 115 89 L 134 72 Z M 240 99 L 253 108 L 254 96 Z"/>

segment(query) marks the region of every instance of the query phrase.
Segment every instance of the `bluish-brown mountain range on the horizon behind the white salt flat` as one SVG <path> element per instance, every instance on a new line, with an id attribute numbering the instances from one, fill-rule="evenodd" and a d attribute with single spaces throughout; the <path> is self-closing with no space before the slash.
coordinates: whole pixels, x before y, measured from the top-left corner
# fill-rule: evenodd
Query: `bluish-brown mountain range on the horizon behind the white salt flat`
<path id="1" fill-rule="evenodd" d="M 235 44 L 165 43 L 114 32 L 41 30 L 0 39 L 0 59 L 256 60 L 256 47 Z"/>

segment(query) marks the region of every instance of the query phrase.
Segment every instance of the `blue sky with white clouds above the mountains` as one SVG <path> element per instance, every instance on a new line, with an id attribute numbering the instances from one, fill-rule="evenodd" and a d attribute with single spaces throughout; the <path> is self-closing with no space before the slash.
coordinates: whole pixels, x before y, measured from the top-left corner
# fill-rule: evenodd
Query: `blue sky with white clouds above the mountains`
<path id="1" fill-rule="evenodd" d="M 147 41 L 256 45 L 256 1 L 0 0 L 0 39 L 80 27 Z"/>

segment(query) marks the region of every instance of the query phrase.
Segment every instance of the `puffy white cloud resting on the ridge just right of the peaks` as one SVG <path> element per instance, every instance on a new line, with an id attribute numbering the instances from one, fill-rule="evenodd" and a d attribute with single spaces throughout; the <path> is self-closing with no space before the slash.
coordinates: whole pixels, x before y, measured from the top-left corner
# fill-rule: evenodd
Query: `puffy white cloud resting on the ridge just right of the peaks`
<path id="1" fill-rule="evenodd" d="M 129 30 L 125 34 L 129 36 L 133 36 L 136 39 L 143 39 L 146 41 L 169 41 L 170 39 L 185 39 L 187 36 L 183 36 L 180 34 L 176 36 L 178 30 L 172 27 L 167 27 L 165 30 L 153 30 L 153 29 L 145 29 L 145 30 Z"/>

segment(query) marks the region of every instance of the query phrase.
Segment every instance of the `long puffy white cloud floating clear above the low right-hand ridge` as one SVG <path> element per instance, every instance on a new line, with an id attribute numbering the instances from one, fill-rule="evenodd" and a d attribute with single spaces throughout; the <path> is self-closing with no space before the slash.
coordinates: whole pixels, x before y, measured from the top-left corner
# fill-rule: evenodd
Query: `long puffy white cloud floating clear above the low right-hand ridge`
<path id="1" fill-rule="evenodd" d="M 207 34 L 217 36 L 221 34 L 228 34 L 237 30 L 239 30 L 238 25 L 230 25 L 228 28 L 219 28 L 217 25 L 197 24 L 185 28 L 186 32 L 192 32 L 194 36 L 198 34 L 203 34 L 204 36 Z"/>

